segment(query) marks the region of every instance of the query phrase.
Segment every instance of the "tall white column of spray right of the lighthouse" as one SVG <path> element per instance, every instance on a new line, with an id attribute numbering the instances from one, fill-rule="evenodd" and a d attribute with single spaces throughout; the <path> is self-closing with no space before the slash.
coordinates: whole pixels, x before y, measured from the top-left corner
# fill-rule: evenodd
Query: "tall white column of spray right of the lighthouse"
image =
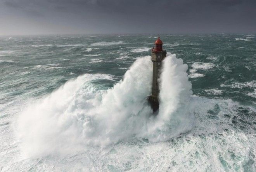
<path id="1" fill-rule="evenodd" d="M 189 103 L 192 84 L 188 80 L 187 69 L 187 64 L 177 59 L 175 54 L 168 53 L 163 61 L 159 79 L 159 114 L 149 127 L 149 137 L 153 141 L 168 140 L 185 133 L 194 124 Z"/>

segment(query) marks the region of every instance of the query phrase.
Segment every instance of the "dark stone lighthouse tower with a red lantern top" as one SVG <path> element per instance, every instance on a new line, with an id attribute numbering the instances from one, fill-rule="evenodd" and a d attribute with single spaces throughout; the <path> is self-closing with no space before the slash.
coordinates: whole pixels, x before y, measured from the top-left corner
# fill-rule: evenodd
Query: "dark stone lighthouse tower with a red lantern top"
<path id="1" fill-rule="evenodd" d="M 163 50 L 163 42 L 160 37 L 155 42 L 155 47 L 151 50 L 151 60 L 153 62 L 153 82 L 152 82 L 152 95 L 148 97 L 153 111 L 157 111 L 159 108 L 159 77 L 162 61 L 166 57 L 166 51 Z"/>

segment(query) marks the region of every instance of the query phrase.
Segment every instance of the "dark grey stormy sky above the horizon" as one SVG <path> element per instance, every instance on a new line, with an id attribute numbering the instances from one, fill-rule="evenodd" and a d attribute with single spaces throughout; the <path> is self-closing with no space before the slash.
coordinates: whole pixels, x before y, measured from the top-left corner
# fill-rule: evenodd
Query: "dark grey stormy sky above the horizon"
<path id="1" fill-rule="evenodd" d="M 0 0 L 0 35 L 255 33 L 256 0 Z"/>

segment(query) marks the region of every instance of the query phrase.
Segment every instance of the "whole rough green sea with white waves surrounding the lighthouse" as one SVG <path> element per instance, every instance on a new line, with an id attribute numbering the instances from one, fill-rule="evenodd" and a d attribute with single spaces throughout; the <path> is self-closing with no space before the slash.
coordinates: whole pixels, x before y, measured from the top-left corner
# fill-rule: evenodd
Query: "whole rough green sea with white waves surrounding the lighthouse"
<path id="1" fill-rule="evenodd" d="M 0 37 L 0 171 L 256 171 L 256 35 Z"/>

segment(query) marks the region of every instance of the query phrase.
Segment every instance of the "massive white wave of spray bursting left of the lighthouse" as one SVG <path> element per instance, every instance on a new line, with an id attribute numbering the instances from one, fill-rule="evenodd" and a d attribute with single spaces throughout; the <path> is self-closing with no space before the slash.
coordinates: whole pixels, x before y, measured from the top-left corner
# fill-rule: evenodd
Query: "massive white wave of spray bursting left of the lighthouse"
<path id="1" fill-rule="evenodd" d="M 109 75 L 85 74 L 30 105 L 17 122 L 25 152 L 65 153 L 84 145 L 104 146 L 133 135 L 141 126 L 134 128 L 133 123 L 138 118 L 145 121 L 138 113 L 150 111 L 143 104 L 150 91 L 151 63 L 149 57 L 138 59 L 113 89 L 97 91 L 91 83 L 97 79 L 113 80 Z"/>

